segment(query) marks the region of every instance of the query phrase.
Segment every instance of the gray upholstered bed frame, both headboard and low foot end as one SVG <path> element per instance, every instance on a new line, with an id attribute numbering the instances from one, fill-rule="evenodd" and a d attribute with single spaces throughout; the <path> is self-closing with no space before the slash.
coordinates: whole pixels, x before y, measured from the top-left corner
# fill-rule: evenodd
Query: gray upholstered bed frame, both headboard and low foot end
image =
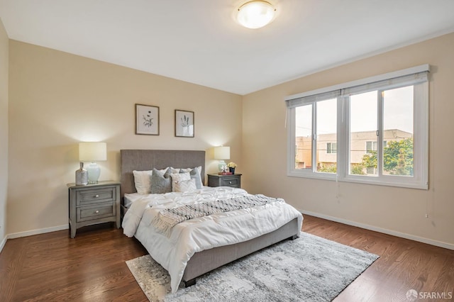
<path id="1" fill-rule="evenodd" d="M 124 216 L 127 208 L 123 206 L 123 196 L 135 193 L 133 170 L 143 171 L 165 169 L 165 167 L 198 167 L 201 166 L 201 180 L 204 184 L 205 176 L 205 151 L 194 150 L 120 150 L 121 157 L 121 215 Z M 196 277 L 201 276 L 213 269 L 240 259 L 264 247 L 273 245 L 286 239 L 299 237 L 298 219 L 295 218 L 281 228 L 271 233 L 255 237 L 245 242 L 234 245 L 215 247 L 210 250 L 196 252 L 184 270 L 183 281 L 185 286 L 196 283 Z"/>

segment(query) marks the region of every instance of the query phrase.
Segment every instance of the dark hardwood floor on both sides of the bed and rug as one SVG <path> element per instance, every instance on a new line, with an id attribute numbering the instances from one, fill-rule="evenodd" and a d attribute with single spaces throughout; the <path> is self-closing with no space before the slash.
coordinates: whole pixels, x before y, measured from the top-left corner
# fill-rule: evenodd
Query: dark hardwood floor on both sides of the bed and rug
<path id="1" fill-rule="evenodd" d="M 453 250 L 311 216 L 303 231 L 380 255 L 335 301 L 409 301 L 410 289 L 431 297 L 419 301 L 454 294 Z M 0 254 L 0 301 L 147 301 L 125 264 L 146 253 L 109 223 L 74 239 L 68 230 L 11 239 Z"/>

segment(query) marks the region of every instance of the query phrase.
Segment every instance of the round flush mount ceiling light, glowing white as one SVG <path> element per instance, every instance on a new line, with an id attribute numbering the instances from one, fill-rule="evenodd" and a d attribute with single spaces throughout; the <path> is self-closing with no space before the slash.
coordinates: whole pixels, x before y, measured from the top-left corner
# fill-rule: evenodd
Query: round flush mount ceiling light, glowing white
<path id="1" fill-rule="evenodd" d="M 248 1 L 238 9 L 238 23 L 246 28 L 261 28 L 276 16 L 276 9 L 267 1 Z"/>

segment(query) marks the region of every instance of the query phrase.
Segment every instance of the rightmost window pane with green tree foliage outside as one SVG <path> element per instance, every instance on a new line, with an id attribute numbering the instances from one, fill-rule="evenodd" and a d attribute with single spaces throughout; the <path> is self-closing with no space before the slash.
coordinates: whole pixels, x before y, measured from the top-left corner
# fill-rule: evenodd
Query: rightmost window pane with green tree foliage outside
<path id="1" fill-rule="evenodd" d="M 383 174 L 413 176 L 413 86 L 383 91 Z"/>

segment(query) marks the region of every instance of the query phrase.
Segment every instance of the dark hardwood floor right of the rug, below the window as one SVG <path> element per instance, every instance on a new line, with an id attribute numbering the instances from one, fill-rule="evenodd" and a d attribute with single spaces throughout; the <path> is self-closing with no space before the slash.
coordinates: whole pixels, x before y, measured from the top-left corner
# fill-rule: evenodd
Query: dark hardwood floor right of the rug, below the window
<path id="1" fill-rule="evenodd" d="M 409 301 L 411 289 L 424 297 L 418 301 L 454 299 L 454 250 L 311 216 L 304 216 L 303 231 L 380 256 L 336 302 Z M 427 298 L 437 294 L 448 299 Z"/>

